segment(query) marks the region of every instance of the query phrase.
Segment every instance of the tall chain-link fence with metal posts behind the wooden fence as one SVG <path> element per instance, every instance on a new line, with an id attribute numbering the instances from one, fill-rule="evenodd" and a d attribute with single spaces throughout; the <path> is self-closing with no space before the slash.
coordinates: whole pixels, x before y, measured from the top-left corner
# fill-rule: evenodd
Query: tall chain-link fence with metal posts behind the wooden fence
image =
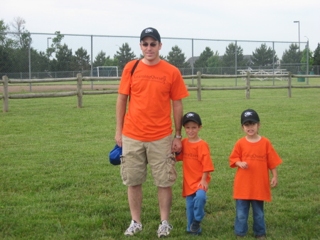
<path id="1" fill-rule="evenodd" d="M 309 66 L 308 42 L 161 38 L 161 58 L 182 75 L 237 75 L 244 70 L 320 74 Z M 125 63 L 142 58 L 139 36 L 0 33 L 0 76 L 11 79 L 121 76 Z"/>

